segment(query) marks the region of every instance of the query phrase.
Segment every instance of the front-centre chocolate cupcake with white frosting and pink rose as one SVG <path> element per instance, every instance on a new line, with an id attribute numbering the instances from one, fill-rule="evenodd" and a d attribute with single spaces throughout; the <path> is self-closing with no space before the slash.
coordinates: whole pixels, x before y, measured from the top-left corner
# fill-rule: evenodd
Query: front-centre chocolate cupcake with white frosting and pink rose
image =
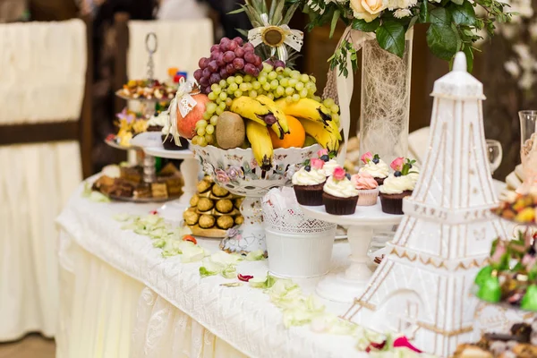
<path id="1" fill-rule="evenodd" d="M 356 210 L 358 191 L 345 174 L 345 169 L 338 166 L 334 174 L 328 177 L 323 187 L 322 202 L 328 214 L 351 215 Z"/>

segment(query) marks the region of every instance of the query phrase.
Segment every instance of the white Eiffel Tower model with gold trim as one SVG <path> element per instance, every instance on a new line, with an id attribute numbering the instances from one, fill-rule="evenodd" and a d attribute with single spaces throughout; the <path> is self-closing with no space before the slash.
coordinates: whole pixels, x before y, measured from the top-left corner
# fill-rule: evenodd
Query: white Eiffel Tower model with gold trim
<path id="1" fill-rule="evenodd" d="M 387 255 L 344 318 L 447 357 L 475 340 L 473 279 L 503 235 L 483 132 L 482 83 L 456 55 L 434 83 L 429 151 Z"/>

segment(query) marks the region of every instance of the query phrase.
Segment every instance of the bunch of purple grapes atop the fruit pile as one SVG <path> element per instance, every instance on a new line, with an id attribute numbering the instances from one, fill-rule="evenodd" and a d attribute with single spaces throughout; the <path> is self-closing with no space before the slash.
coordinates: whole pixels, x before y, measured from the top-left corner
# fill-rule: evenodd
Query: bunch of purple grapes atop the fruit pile
<path id="1" fill-rule="evenodd" d="M 243 43 L 243 38 L 222 38 L 220 44 L 210 47 L 210 57 L 201 57 L 200 68 L 194 78 L 200 83 L 201 92 L 209 94 L 210 86 L 235 73 L 246 73 L 257 77 L 263 69 L 261 57 L 255 55 L 251 43 Z"/>

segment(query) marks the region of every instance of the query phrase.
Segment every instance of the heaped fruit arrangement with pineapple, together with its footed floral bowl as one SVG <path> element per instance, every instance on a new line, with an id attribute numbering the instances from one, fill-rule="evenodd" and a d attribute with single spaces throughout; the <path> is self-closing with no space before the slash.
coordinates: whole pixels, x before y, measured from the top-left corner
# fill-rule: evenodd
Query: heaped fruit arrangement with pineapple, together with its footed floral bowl
<path id="1" fill-rule="evenodd" d="M 283 2 L 272 5 L 277 3 Z M 286 62 L 287 52 L 277 49 L 302 32 L 289 30 L 281 13 L 257 13 L 249 1 L 244 7 L 254 27 L 259 25 L 256 16 L 274 23 L 266 29 L 276 31 L 280 41 L 222 38 L 200 58 L 193 73 L 196 83 L 180 84 L 169 108 L 172 135 L 191 142 L 205 174 L 245 197 L 243 225 L 228 230 L 220 243 L 222 250 L 240 253 L 266 251 L 260 198 L 272 188 L 291 185 L 294 173 L 319 149 L 337 153 L 342 140 L 334 99 L 321 99 L 315 77 L 294 70 Z M 293 12 L 284 11 L 284 18 Z"/>

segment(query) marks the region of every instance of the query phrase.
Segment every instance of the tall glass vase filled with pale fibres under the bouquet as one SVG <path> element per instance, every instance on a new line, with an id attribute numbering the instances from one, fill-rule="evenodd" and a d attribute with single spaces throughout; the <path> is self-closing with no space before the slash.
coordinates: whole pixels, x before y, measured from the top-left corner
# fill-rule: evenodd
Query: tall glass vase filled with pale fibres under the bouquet
<path id="1" fill-rule="evenodd" d="M 379 154 L 388 164 L 408 151 L 412 42 L 410 29 L 402 58 L 379 47 L 376 39 L 362 47 L 360 153 Z"/>

